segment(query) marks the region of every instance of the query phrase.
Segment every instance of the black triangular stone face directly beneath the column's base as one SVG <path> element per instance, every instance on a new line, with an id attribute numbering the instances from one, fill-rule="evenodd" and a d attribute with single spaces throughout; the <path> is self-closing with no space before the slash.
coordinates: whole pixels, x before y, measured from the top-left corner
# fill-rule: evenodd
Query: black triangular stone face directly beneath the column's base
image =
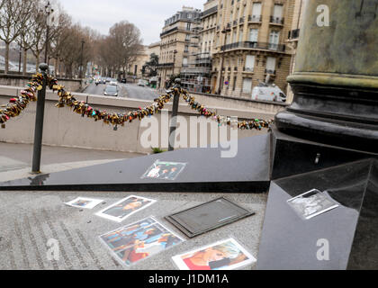
<path id="1" fill-rule="evenodd" d="M 272 180 L 338 166 L 378 154 L 299 139 L 272 129 Z"/>

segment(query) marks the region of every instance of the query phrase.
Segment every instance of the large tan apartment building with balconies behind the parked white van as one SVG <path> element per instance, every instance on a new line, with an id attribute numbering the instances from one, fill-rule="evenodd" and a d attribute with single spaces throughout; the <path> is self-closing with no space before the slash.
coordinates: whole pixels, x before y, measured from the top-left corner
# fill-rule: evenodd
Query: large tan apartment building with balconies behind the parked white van
<path id="1" fill-rule="evenodd" d="M 269 77 L 287 90 L 296 0 L 219 0 L 212 59 L 212 93 L 250 97 Z"/>

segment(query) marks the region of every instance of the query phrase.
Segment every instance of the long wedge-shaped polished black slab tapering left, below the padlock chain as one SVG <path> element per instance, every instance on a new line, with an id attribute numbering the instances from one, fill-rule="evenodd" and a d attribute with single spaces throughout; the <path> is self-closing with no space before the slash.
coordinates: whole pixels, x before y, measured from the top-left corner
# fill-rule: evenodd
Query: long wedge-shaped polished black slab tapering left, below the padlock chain
<path id="1" fill-rule="evenodd" d="M 0 190 L 265 193 L 270 183 L 270 135 L 239 139 L 236 157 L 221 148 L 185 148 L 147 157 L 37 175 L 0 184 Z M 174 181 L 144 178 L 155 161 L 187 163 Z"/>

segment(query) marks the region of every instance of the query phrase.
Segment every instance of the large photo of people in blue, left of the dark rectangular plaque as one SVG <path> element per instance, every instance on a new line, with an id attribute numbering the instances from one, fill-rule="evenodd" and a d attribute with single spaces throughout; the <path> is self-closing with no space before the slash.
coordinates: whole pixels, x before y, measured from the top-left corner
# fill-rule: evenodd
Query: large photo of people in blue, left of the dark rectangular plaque
<path id="1" fill-rule="evenodd" d="M 100 236 L 122 265 L 131 266 L 184 241 L 153 217 Z"/>

